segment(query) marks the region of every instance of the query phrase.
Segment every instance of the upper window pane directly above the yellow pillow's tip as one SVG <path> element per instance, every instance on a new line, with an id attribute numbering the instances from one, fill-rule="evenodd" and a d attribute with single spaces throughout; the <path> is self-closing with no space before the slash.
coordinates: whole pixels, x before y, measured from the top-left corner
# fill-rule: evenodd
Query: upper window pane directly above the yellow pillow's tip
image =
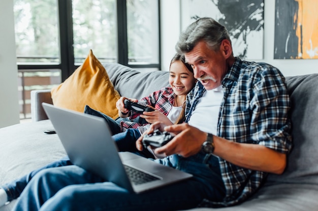
<path id="1" fill-rule="evenodd" d="M 117 62 L 116 1 L 72 3 L 75 64 L 83 63 L 90 49 L 101 62 Z"/>

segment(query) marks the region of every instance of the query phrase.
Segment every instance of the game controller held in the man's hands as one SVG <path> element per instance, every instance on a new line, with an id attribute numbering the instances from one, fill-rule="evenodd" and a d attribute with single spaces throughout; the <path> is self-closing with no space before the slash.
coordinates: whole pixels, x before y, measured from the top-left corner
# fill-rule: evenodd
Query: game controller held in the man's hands
<path id="1" fill-rule="evenodd" d="M 173 136 L 167 132 L 161 132 L 159 130 L 155 130 L 152 134 L 146 134 L 142 139 L 142 144 L 145 148 L 149 145 L 153 147 L 162 147 L 167 144 Z"/>

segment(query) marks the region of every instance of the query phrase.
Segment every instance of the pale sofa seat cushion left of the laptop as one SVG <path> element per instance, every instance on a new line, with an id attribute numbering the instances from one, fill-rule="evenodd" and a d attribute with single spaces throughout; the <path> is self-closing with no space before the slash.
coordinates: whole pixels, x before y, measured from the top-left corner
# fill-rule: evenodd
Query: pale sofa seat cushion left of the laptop
<path id="1" fill-rule="evenodd" d="M 0 129 L 0 185 L 18 179 L 66 156 L 50 120 L 27 122 Z"/>

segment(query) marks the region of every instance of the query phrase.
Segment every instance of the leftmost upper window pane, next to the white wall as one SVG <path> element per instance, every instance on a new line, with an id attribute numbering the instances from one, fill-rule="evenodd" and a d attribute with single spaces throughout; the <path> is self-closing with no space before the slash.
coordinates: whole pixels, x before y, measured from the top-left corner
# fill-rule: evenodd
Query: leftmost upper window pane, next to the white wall
<path id="1" fill-rule="evenodd" d="M 15 0 L 18 64 L 59 64 L 56 0 Z"/>

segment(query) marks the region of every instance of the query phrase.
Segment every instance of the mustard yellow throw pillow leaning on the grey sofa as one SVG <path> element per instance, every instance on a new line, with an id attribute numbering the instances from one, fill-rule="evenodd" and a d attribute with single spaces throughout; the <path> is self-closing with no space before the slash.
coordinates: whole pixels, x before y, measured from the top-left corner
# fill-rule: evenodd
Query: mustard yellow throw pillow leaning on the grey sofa
<path id="1" fill-rule="evenodd" d="M 113 119 L 118 117 L 116 102 L 120 95 L 91 50 L 84 63 L 51 90 L 51 96 L 53 104 L 58 107 L 84 112 L 85 105 L 88 105 Z"/>

